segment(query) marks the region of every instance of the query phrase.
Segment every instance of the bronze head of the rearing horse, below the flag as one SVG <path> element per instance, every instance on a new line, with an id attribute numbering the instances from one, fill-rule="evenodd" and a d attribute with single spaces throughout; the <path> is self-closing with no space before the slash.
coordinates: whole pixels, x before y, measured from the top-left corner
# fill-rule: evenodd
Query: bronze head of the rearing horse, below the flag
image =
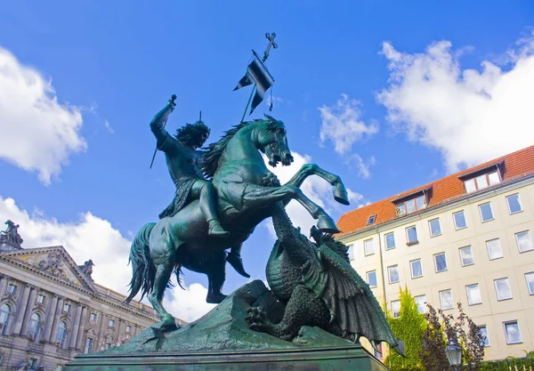
<path id="1" fill-rule="evenodd" d="M 291 165 L 293 156 L 287 145 L 286 125 L 283 122 L 265 115 L 257 132 L 258 148 L 269 158 L 269 165 Z"/>

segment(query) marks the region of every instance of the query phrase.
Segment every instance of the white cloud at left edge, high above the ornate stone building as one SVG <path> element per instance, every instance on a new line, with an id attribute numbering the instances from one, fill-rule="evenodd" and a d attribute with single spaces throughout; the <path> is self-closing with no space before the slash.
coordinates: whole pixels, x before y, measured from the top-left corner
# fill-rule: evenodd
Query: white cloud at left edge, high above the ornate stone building
<path id="1" fill-rule="evenodd" d="M 49 184 L 85 150 L 80 109 L 58 102 L 51 81 L 0 47 L 0 157 Z"/>

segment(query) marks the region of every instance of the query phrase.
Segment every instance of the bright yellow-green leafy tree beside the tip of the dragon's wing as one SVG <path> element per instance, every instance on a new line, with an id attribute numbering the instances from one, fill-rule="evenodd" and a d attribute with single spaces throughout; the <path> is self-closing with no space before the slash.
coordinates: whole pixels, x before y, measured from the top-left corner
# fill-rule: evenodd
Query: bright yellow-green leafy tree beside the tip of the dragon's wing
<path id="1" fill-rule="evenodd" d="M 417 311 L 417 304 L 414 297 L 409 294 L 408 288 L 400 290 L 401 311 L 400 317 L 393 319 L 386 311 L 387 320 L 392 333 L 397 339 L 404 342 L 404 353 L 406 358 L 401 357 L 396 352 L 390 352 L 384 363 L 392 371 L 423 371 L 423 363 L 419 356 L 423 347 L 423 334 L 425 333 L 425 315 Z"/>

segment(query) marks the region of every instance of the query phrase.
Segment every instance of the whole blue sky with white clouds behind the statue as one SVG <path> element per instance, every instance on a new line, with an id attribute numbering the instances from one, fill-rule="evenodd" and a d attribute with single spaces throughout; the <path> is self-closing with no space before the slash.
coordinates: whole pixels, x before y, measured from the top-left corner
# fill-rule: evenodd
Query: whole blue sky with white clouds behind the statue
<path id="1" fill-rule="evenodd" d="M 303 184 L 337 219 L 533 144 L 533 26 L 530 0 L 0 0 L 0 221 L 20 224 L 24 247 L 93 259 L 93 278 L 126 293 L 131 240 L 174 196 L 161 153 L 149 168 L 150 119 L 175 93 L 169 131 L 201 110 L 216 141 L 239 123 L 250 91 L 232 89 L 266 32 L 274 107 L 248 118 L 286 123 L 295 163 L 273 169 L 281 181 L 310 162 L 342 177 L 351 206 Z M 244 244 L 251 279 L 265 280 L 274 241 L 268 220 Z M 205 276 L 183 280 L 165 303 L 190 321 L 213 306 Z M 226 294 L 245 283 L 228 267 Z"/>

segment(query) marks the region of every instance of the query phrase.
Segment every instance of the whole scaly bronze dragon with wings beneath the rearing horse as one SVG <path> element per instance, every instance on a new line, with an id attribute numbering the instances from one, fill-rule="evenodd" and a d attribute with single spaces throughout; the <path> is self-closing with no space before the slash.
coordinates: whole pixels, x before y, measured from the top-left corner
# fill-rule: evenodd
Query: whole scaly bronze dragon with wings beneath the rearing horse
<path id="1" fill-rule="evenodd" d="M 374 294 L 352 269 L 347 247 L 315 227 L 313 243 L 293 226 L 280 203 L 273 209 L 279 239 L 265 271 L 285 311 L 281 321 L 273 323 L 262 307 L 249 308 L 248 326 L 287 341 L 303 326 L 320 327 L 354 343 L 366 337 L 376 351 L 377 343 L 389 343 L 402 355 Z"/>

